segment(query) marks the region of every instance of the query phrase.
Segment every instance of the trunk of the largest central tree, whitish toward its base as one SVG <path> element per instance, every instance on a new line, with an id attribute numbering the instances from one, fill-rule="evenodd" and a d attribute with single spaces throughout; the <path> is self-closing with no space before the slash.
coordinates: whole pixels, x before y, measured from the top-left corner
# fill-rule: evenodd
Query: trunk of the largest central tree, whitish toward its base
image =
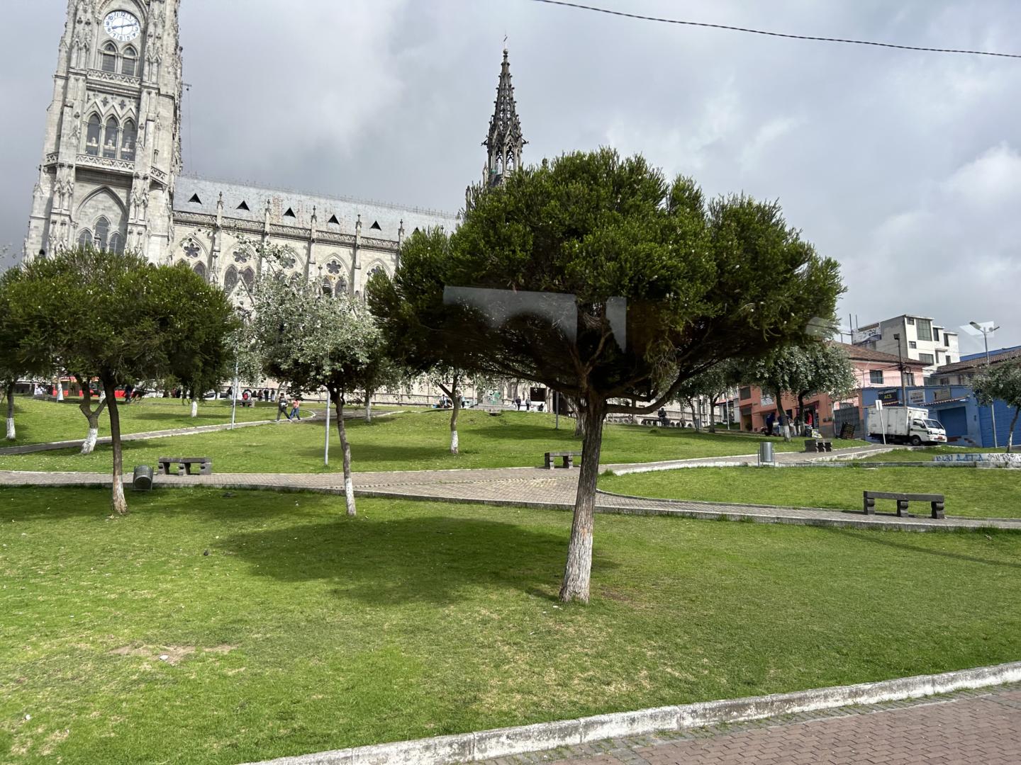
<path id="1" fill-rule="evenodd" d="M 590 399 L 584 413 L 585 438 L 581 453 L 581 472 L 578 475 L 578 494 L 575 497 L 574 520 L 571 523 L 571 543 L 568 545 L 568 562 L 561 584 L 561 601 L 588 603 L 588 585 L 592 575 L 592 523 L 595 516 L 595 483 L 599 477 L 599 450 L 602 445 L 602 419 L 606 403 Z"/>

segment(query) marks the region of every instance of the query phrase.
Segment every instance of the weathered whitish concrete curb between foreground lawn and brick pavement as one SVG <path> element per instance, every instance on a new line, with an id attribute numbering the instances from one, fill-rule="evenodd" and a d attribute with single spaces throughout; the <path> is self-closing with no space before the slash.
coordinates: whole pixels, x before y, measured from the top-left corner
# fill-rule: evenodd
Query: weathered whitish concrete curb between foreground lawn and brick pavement
<path id="1" fill-rule="evenodd" d="M 819 712 L 863 704 L 921 699 L 955 691 L 1021 681 L 1021 662 L 941 674 L 901 677 L 856 685 L 699 702 L 635 712 L 543 722 L 418 741 L 283 757 L 247 765 L 446 765 L 542 752 L 557 747 L 646 735 L 664 730 L 747 722 L 778 715 Z"/>

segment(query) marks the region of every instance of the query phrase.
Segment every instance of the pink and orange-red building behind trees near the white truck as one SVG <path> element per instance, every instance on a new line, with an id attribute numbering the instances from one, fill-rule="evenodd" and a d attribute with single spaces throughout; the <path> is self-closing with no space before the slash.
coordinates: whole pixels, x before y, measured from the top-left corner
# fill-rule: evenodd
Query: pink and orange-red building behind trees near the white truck
<path id="1" fill-rule="evenodd" d="M 855 376 L 858 378 L 858 390 L 848 398 L 840 401 L 833 401 L 826 394 L 813 396 L 805 400 L 805 411 L 812 415 L 813 424 L 819 428 L 820 432 L 826 437 L 834 436 L 833 410 L 843 407 L 861 407 L 861 390 L 863 388 L 900 388 L 901 375 L 898 368 L 901 360 L 891 354 L 873 351 L 859 346 L 849 346 L 844 343 L 831 343 L 843 349 L 855 367 Z M 925 364 L 915 359 L 904 360 L 904 382 L 912 386 L 924 385 L 922 371 Z M 755 386 L 742 386 L 738 392 L 738 406 L 740 411 L 740 423 L 742 430 L 758 431 L 766 427 L 766 419 L 770 413 L 776 413 L 777 406 L 773 400 L 773 395 L 764 394 Z M 781 402 L 784 412 L 793 418 L 797 416 L 797 399 L 789 394 L 784 394 Z"/>

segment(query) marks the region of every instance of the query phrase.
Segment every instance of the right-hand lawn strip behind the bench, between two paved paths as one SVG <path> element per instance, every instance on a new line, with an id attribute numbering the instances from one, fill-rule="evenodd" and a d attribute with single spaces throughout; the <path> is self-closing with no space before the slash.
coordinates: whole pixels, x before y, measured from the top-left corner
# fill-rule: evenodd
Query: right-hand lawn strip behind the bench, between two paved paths
<path id="1" fill-rule="evenodd" d="M 943 494 L 946 514 L 1021 518 L 1021 470 L 966 467 L 699 467 L 604 475 L 599 488 L 639 497 L 861 510 L 862 492 Z M 892 500 L 878 500 L 892 512 Z M 928 513 L 918 505 L 913 512 Z"/>

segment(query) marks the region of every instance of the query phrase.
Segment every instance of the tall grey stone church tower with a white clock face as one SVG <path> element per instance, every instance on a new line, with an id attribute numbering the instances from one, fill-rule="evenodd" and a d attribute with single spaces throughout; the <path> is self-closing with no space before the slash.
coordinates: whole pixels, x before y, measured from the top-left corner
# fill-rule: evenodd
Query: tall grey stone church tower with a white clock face
<path id="1" fill-rule="evenodd" d="M 180 0 L 68 0 L 25 257 L 167 256 L 181 170 Z"/>

